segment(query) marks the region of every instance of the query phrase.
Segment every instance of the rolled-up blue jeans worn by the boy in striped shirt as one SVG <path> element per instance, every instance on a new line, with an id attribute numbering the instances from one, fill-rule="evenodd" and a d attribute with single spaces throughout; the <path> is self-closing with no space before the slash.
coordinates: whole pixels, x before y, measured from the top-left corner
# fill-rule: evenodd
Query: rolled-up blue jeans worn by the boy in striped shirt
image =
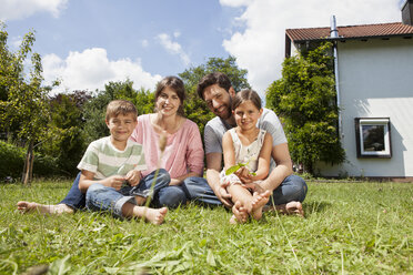
<path id="1" fill-rule="evenodd" d="M 153 171 L 143 177 L 137 186 L 124 186 L 119 191 L 100 183 L 93 183 L 89 186 L 85 194 L 85 205 L 91 211 L 108 211 L 114 216 L 122 217 L 122 207 L 125 203 L 137 204 L 135 195 L 153 197 L 153 195 L 158 194 L 162 187 L 168 186 L 171 182 L 169 173 L 160 169 L 157 182 L 153 190 L 151 190 L 152 183 L 155 180 L 155 173 L 157 171 Z"/>

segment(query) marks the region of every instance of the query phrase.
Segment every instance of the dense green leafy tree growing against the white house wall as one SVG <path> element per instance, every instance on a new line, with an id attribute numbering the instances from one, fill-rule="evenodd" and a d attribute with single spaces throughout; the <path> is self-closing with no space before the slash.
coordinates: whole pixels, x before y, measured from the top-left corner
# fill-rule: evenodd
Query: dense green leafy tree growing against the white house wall
<path id="1" fill-rule="evenodd" d="M 331 43 L 284 60 L 282 78 L 266 91 L 266 106 L 284 123 L 292 159 L 314 173 L 314 163 L 342 163 Z"/>

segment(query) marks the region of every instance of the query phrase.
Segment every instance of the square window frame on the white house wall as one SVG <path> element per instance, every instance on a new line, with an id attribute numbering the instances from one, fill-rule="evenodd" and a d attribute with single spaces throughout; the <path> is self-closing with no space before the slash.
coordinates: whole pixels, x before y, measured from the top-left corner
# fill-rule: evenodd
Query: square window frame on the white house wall
<path id="1" fill-rule="evenodd" d="M 365 151 L 363 142 L 363 125 L 383 125 L 384 126 L 384 151 Z M 357 147 L 357 157 L 360 159 L 390 159 L 392 157 L 391 126 L 390 118 L 355 118 L 355 143 Z"/>

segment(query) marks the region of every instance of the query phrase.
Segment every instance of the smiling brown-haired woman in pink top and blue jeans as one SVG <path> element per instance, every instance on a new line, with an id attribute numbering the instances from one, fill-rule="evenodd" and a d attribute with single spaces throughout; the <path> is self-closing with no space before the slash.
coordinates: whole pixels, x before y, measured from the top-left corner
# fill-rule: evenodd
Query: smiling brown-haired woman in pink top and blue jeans
<path id="1" fill-rule="evenodd" d="M 143 176 L 157 167 L 165 169 L 171 175 L 169 186 L 159 191 L 153 203 L 157 206 L 177 207 L 187 202 L 182 182 L 193 176 L 202 176 L 203 147 L 198 125 L 183 116 L 185 90 L 182 80 L 177 77 L 162 79 L 155 90 L 155 113 L 138 118 L 138 125 L 131 136 L 144 147 L 145 161 L 150 167 L 142 171 Z M 160 154 L 159 140 L 167 135 L 165 149 Z M 68 195 L 57 205 L 33 202 L 18 202 L 18 210 L 41 213 L 73 213 L 84 207 L 84 194 L 79 190 L 79 175 Z"/>

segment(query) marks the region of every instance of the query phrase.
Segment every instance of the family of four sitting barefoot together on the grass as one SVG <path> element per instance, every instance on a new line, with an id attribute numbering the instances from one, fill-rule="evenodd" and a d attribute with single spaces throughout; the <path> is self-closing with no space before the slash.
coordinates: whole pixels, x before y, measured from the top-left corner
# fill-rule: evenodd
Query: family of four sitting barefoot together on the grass
<path id="1" fill-rule="evenodd" d="M 183 114 L 183 82 L 167 77 L 157 86 L 155 113 L 137 119 L 129 101 L 109 103 L 110 136 L 89 145 L 63 201 L 57 205 L 21 201 L 18 208 L 60 214 L 87 207 L 161 224 L 168 207 L 193 201 L 231 208 L 231 223 L 260 220 L 266 210 L 303 216 L 308 186 L 292 174 L 275 113 L 261 106 L 256 92 L 235 93 L 220 72 L 205 75 L 198 93 L 216 115 L 204 129 L 206 179 L 200 131 Z"/>

